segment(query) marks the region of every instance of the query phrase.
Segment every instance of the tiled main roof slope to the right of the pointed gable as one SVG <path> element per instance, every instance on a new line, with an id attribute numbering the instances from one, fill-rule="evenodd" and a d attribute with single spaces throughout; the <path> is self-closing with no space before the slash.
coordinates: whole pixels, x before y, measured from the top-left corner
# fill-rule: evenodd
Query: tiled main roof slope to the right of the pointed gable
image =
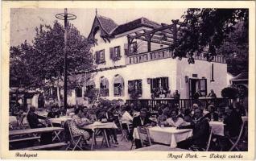
<path id="1" fill-rule="evenodd" d="M 140 18 L 140 19 L 135 19 L 129 23 L 124 23 L 122 25 L 119 25 L 112 33 L 112 35 L 118 35 L 122 34 L 126 31 L 131 31 L 134 30 L 135 28 L 138 27 L 151 27 L 151 28 L 158 28 L 162 27 L 159 23 L 155 23 L 154 21 L 151 21 L 147 18 Z"/>

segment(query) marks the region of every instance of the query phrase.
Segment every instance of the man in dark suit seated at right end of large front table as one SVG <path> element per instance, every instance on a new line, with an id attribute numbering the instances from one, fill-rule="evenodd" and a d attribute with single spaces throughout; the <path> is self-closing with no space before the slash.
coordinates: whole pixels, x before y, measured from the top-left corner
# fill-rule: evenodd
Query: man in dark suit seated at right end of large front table
<path id="1" fill-rule="evenodd" d="M 195 109 L 195 122 L 192 122 L 189 126 L 180 126 L 179 129 L 188 128 L 193 129 L 192 137 L 187 140 L 178 142 L 179 148 L 188 149 L 192 145 L 199 148 L 204 148 L 206 142 L 209 139 L 209 122 L 203 118 L 203 110 Z"/>

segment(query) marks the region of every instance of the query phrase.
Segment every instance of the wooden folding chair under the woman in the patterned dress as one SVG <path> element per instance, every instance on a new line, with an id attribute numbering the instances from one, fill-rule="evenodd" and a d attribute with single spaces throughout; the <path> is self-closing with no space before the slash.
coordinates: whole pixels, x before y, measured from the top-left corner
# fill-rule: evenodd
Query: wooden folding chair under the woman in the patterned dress
<path id="1" fill-rule="evenodd" d="M 72 149 L 72 151 L 74 151 L 76 147 L 78 147 L 80 150 L 83 150 L 83 148 L 78 144 L 81 143 L 81 141 L 83 140 L 85 141 L 84 136 L 82 134 L 72 134 L 72 130 L 70 128 L 70 122 L 71 122 L 70 120 L 65 122 L 65 128 L 67 128 L 70 136 L 68 147 L 66 147 L 66 151 L 69 149 Z"/>

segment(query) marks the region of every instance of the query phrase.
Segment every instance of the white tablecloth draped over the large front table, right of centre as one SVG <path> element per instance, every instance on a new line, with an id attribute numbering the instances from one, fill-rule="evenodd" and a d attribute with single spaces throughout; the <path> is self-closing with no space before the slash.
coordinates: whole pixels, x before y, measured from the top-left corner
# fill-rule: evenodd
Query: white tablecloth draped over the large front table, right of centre
<path id="1" fill-rule="evenodd" d="M 192 129 L 177 130 L 175 127 L 151 127 L 149 133 L 154 142 L 170 145 L 171 148 L 177 147 L 177 142 L 186 140 L 192 136 Z M 139 139 L 138 130 L 134 128 L 134 138 Z"/>

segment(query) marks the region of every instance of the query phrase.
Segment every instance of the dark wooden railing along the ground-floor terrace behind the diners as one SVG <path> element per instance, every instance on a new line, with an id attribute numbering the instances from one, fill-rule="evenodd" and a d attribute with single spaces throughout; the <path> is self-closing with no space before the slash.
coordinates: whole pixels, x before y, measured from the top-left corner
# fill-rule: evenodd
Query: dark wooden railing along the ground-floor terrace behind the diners
<path id="1" fill-rule="evenodd" d="M 178 108 L 185 107 L 186 109 L 191 109 L 192 105 L 194 103 L 200 104 L 204 108 L 208 107 L 210 102 L 214 102 L 215 106 L 225 106 L 225 105 L 230 105 L 231 100 L 228 98 L 204 98 L 204 99 L 180 99 L 180 100 L 175 100 L 175 99 L 138 99 L 138 100 L 126 100 L 126 103 L 130 105 L 131 103 L 134 103 L 134 105 L 140 105 L 141 107 L 146 107 L 148 108 L 149 105 L 152 107 L 152 109 L 155 108 L 157 104 L 171 104 L 175 105 Z"/>

